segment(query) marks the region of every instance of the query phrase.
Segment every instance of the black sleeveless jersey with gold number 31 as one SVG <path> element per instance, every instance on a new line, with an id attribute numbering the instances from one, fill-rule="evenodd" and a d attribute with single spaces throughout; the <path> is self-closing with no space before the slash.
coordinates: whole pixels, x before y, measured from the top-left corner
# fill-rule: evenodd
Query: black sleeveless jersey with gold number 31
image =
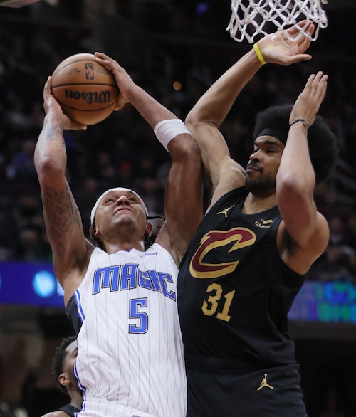
<path id="1" fill-rule="evenodd" d="M 241 374 L 295 363 L 287 314 L 303 275 L 278 253 L 278 207 L 243 214 L 247 194 L 235 189 L 211 207 L 182 260 L 178 308 L 187 368 Z"/>

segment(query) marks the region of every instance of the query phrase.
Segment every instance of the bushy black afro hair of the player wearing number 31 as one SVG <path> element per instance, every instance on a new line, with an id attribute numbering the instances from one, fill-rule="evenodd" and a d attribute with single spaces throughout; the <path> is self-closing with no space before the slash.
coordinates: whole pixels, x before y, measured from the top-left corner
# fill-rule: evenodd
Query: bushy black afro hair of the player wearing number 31
<path id="1" fill-rule="evenodd" d="M 286 132 L 289 130 L 289 117 L 293 105 L 276 105 L 268 107 L 256 116 L 253 140 L 266 127 Z M 320 184 L 327 180 L 337 162 L 337 139 L 323 117 L 317 115 L 308 129 L 308 146 L 310 161 L 315 172 L 315 182 Z"/>

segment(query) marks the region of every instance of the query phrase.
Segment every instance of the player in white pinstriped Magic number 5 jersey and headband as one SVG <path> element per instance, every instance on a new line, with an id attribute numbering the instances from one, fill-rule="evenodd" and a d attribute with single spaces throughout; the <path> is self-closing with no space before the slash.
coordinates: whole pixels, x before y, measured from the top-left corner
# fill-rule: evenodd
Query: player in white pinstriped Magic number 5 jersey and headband
<path id="1" fill-rule="evenodd" d="M 78 332 L 75 374 L 83 390 L 78 417 L 185 417 L 187 382 L 177 314 L 178 266 L 201 220 L 201 160 L 183 122 L 135 85 L 103 53 L 120 90 L 117 110 L 130 102 L 154 128 L 172 166 L 165 191 L 165 221 L 149 247 L 152 224 L 135 191 L 117 187 L 95 204 L 85 238 L 66 181 L 63 129 L 81 129 L 43 90 L 46 117 L 36 144 L 53 266 L 66 311 Z"/>

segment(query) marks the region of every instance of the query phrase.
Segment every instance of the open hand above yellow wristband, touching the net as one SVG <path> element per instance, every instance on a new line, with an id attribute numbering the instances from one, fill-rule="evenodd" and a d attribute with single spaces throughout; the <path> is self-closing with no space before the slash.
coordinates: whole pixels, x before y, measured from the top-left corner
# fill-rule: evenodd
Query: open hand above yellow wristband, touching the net
<path id="1" fill-rule="evenodd" d="M 306 21 L 299 22 L 298 26 L 303 26 L 303 31 L 308 33 L 309 36 L 313 34 L 315 28 L 314 23 L 307 23 Z M 273 38 L 273 41 L 271 38 Z M 293 26 L 285 31 L 278 31 L 271 37 L 262 38 L 258 41 L 258 48 L 266 62 L 288 66 L 302 60 L 311 59 L 308 53 L 304 53 L 309 48 L 310 42 L 308 36 L 300 33 L 297 26 Z"/>

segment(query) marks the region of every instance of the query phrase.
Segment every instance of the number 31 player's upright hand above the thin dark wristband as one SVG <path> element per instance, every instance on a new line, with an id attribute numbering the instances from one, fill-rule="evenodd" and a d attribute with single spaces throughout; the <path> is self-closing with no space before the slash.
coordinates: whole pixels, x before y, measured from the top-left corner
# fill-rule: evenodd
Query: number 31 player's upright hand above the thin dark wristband
<path id="1" fill-rule="evenodd" d="M 325 97 L 327 82 L 328 75 L 323 75 L 321 71 L 316 75 L 310 75 L 290 112 L 289 122 L 295 119 L 304 119 L 309 126 L 313 125 L 315 116 L 318 114 L 320 105 Z"/>

